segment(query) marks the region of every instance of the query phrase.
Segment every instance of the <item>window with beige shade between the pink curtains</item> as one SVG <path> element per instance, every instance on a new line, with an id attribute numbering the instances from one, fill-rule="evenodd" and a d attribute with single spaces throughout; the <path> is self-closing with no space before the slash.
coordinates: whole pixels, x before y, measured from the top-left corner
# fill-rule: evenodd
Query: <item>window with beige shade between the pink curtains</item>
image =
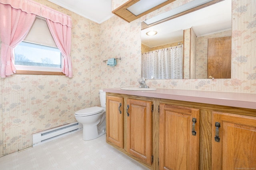
<path id="1" fill-rule="evenodd" d="M 24 41 L 14 49 L 14 65 L 18 70 L 16 73 L 61 73 L 62 63 L 61 52 L 56 46 L 46 20 L 36 17 Z"/>

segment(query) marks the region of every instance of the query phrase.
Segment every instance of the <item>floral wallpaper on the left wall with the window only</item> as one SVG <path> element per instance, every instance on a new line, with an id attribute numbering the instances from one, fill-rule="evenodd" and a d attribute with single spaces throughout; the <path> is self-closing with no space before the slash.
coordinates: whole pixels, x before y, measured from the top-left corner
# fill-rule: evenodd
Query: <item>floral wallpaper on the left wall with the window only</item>
<path id="1" fill-rule="evenodd" d="M 99 106 L 100 24 L 46 0 L 72 17 L 74 77 L 14 74 L 0 79 L 0 156 L 32 146 L 32 134 L 76 121 L 74 112 Z"/>

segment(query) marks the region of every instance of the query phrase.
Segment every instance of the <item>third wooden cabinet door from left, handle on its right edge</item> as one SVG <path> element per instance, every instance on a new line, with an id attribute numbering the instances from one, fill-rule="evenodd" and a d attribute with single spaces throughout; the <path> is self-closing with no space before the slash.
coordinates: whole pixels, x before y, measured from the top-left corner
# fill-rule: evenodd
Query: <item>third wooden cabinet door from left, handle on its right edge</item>
<path id="1" fill-rule="evenodd" d="M 160 104 L 159 169 L 198 170 L 199 109 Z"/>

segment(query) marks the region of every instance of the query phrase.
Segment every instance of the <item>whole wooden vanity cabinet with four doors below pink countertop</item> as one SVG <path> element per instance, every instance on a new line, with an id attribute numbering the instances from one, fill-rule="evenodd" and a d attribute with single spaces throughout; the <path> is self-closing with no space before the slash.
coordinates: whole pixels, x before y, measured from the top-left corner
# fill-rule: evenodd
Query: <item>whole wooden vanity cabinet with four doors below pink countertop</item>
<path id="1" fill-rule="evenodd" d="M 256 170 L 256 109 L 116 93 L 106 103 L 107 143 L 151 170 Z"/>

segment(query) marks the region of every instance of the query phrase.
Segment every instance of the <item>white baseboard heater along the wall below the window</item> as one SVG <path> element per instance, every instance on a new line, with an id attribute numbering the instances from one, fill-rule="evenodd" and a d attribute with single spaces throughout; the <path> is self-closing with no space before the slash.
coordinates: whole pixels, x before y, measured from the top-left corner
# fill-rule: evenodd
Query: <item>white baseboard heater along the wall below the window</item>
<path id="1" fill-rule="evenodd" d="M 46 131 L 32 134 L 33 137 L 33 147 L 57 139 L 64 135 L 74 133 L 75 131 L 82 130 L 82 125 L 78 122 L 69 123 L 63 126 L 55 127 Z"/>

